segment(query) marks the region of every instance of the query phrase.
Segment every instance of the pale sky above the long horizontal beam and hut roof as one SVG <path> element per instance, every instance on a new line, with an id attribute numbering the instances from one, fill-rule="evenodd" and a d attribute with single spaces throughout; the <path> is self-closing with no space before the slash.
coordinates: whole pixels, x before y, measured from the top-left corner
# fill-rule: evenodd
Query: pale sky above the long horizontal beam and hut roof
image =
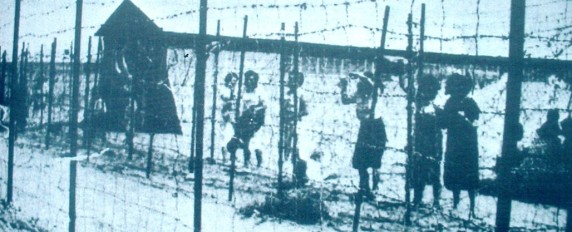
<path id="1" fill-rule="evenodd" d="M 1 0 L 0 46 L 11 53 L 14 1 Z M 133 0 L 143 12 L 165 31 L 198 32 L 199 0 L 165 1 Z M 223 35 L 241 36 L 244 15 L 249 16 L 248 35 L 257 38 L 278 38 L 280 23 L 286 23 L 293 33 L 294 23 L 300 23 L 300 41 L 337 45 L 375 47 L 379 45 L 385 6 L 391 7 L 387 48 L 405 49 L 407 46 L 407 14 L 412 12 L 419 22 L 421 4 L 426 4 L 425 50 L 454 54 L 507 56 L 510 0 L 210 0 L 208 33 L 215 34 L 216 20 L 221 20 Z M 87 47 L 87 36 L 105 22 L 121 0 L 85 0 L 82 31 L 82 50 Z M 347 4 L 344 4 L 347 3 Z M 528 0 L 525 43 L 527 56 L 572 59 L 572 7 L 566 0 Z M 253 5 L 257 5 L 253 7 Z M 246 7 L 243 7 L 246 6 Z M 478 13 L 477 13 L 478 11 Z M 49 46 L 53 38 L 59 48 L 73 41 L 75 1 L 22 0 L 20 44 L 30 43 L 32 53 L 40 44 Z M 325 30 L 325 31 L 324 31 Z M 313 33 L 312 33 L 313 32 Z M 419 35 L 419 27 L 413 29 Z M 475 34 L 485 36 L 475 41 Z M 437 38 L 451 39 L 442 41 Z M 289 38 L 292 40 L 293 38 Z M 415 46 L 419 39 L 415 38 Z"/>

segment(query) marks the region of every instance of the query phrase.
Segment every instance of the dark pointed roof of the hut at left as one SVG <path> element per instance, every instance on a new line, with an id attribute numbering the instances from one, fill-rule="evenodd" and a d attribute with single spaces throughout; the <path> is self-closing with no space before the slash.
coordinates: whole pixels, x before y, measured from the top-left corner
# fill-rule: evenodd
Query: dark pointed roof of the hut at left
<path id="1" fill-rule="evenodd" d="M 107 21 L 101 25 L 95 35 L 145 36 L 161 31 L 162 29 L 149 19 L 139 7 L 130 0 L 124 0 Z"/>

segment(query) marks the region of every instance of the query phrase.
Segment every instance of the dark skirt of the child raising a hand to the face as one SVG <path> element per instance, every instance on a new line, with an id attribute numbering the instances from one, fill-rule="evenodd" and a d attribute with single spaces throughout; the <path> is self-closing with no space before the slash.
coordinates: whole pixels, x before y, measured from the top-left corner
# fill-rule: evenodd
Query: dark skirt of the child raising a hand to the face
<path id="1" fill-rule="evenodd" d="M 386 142 L 385 124 L 381 118 L 361 120 L 352 167 L 358 170 L 380 168 Z"/>

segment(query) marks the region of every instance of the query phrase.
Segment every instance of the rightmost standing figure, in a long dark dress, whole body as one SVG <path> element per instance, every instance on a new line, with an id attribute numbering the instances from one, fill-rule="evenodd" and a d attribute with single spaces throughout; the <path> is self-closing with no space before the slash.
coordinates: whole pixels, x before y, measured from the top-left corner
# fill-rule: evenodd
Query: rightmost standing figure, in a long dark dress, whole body
<path id="1" fill-rule="evenodd" d="M 447 78 L 445 94 L 450 95 L 440 116 L 447 130 L 445 151 L 445 187 L 453 192 L 457 208 L 461 190 L 469 193 L 470 215 L 475 213 L 475 196 L 479 186 L 479 148 L 477 127 L 480 109 L 470 97 L 473 82 L 469 76 L 452 74 Z"/>

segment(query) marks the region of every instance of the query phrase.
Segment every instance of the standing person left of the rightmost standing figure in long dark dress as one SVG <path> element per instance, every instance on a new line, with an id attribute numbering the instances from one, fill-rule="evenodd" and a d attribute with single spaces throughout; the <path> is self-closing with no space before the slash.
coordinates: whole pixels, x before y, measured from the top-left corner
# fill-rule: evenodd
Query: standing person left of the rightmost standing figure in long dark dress
<path id="1" fill-rule="evenodd" d="M 423 199 L 425 185 L 433 186 L 433 206 L 439 207 L 441 194 L 441 159 L 443 135 L 437 126 L 437 112 L 442 109 L 433 104 L 441 85 L 434 76 L 418 80 L 415 115 L 415 153 L 412 161 L 413 203 L 418 206 Z"/>

